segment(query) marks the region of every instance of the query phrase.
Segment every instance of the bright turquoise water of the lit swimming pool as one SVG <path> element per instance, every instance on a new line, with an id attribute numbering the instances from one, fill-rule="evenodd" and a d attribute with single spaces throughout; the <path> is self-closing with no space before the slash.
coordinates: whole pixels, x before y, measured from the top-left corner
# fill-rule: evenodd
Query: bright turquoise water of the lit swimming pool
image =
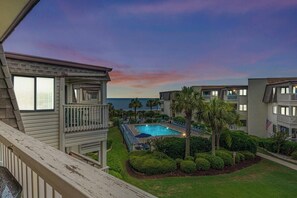
<path id="1" fill-rule="evenodd" d="M 136 125 L 135 128 L 139 133 L 146 133 L 151 136 L 180 135 L 180 132 L 162 125 Z"/>

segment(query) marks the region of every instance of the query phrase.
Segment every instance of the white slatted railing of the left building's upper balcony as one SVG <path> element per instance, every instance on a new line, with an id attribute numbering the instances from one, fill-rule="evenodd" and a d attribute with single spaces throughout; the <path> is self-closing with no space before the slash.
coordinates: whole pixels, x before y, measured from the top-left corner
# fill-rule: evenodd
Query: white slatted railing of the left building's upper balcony
<path id="1" fill-rule="evenodd" d="M 108 128 L 108 105 L 64 105 L 64 132 Z"/>

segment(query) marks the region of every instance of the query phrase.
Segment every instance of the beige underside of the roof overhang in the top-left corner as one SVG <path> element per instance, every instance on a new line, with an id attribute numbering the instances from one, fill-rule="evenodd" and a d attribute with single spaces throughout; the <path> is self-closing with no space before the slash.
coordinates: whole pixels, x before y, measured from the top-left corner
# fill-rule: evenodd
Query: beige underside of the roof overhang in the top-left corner
<path id="1" fill-rule="evenodd" d="M 0 44 L 9 36 L 39 0 L 0 1 Z"/>

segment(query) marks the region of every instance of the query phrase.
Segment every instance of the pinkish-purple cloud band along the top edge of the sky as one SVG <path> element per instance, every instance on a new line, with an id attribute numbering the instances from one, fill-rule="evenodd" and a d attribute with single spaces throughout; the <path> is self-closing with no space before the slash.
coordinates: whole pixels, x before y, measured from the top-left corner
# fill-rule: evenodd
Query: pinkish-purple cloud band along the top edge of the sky
<path id="1" fill-rule="evenodd" d="M 165 0 L 158 3 L 136 4 L 119 7 L 134 14 L 181 14 L 191 12 L 246 13 L 257 9 L 282 9 L 297 6 L 294 0 Z"/>

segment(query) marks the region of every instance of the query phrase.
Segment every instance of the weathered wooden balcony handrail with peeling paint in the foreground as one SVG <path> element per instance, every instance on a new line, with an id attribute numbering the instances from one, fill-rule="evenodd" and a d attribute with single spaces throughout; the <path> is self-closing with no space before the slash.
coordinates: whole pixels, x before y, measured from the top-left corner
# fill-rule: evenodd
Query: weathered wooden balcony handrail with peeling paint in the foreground
<path id="1" fill-rule="evenodd" d="M 154 197 L 0 121 L 2 163 L 27 197 Z"/>

